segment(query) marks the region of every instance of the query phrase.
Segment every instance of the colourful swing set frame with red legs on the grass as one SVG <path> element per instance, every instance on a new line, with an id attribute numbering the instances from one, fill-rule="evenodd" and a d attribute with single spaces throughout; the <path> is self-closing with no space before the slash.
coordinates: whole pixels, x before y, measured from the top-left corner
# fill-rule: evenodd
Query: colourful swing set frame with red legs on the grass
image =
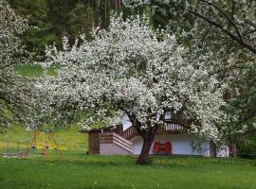
<path id="1" fill-rule="evenodd" d="M 54 132 L 52 131 L 40 131 L 35 130 L 33 135 L 32 142 L 30 146 L 27 148 L 27 155 L 30 151 L 41 151 L 42 156 L 48 156 L 48 149 L 55 149 L 58 153 L 63 157 L 60 147 L 56 142 L 56 137 Z"/>

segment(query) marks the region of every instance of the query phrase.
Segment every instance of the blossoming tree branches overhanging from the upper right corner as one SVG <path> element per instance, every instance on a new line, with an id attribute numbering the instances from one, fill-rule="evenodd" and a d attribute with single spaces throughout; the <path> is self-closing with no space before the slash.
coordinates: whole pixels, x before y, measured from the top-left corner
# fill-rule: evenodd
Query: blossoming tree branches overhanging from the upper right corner
<path id="1" fill-rule="evenodd" d="M 123 0 L 127 9 L 151 9 L 155 26 L 177 33 L 193 54 L 219 60 L 213 72 L 229 82 L 226 138 L 236 143 L 255 130 L 256 1 Z M 134 12 L 134 11 L 133 11 Z M 211 62 L 210 60 L 210 62 Z M 229 125 L 229 127 L 228 127 Z"/>

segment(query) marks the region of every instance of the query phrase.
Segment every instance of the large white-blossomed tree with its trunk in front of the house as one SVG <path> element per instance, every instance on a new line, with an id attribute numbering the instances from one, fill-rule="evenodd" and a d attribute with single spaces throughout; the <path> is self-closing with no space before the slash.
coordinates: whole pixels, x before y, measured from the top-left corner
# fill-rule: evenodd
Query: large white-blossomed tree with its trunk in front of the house
<path id="1" fill-rule="evenodd" d="M 71 47 L 64 38 L 63 51 L 47 49 L 44 66 L 58 71 L 45 75 L 39 91 L 50 95 L 50 104 L 71 114 L 90 112 L 80 120 L 87 127 L 96 120 L 116 126 L 125 113 L 144 141 L 140 164 L 147 163 L 166 112 L 181 112 L 186 127 L 202 137 L 220 136 L 222 86 L 205 59 L 186 59 L 174 36 L 154 31 L 141 17 L 112 17 L 109 29 L 95 29 L 93 37 Z"/>

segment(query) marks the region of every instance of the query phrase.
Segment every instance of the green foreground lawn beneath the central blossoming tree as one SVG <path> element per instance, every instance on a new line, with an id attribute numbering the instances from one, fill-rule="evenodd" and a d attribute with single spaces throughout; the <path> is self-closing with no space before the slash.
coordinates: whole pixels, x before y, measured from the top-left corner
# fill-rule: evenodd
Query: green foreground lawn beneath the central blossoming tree
<path id="1" fill-rule="evenodd" d="M 256 162 L 231 159 L 89 156 L 77 152 L 43 158 L 0 158 L 0 188 L 256 189 Z"/>

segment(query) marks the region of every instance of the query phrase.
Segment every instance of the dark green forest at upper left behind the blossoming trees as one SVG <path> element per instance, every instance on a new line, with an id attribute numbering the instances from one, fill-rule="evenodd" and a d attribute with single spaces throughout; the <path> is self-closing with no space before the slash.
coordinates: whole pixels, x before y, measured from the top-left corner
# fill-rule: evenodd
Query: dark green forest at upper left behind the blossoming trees
<path id="1" fill-rule="evenodd" d="M 46 45 L 61 46 L 63 36 L 74 42 L 80 34 L 90 38 L 93 26 L 106 28 L 110 15 L 120 9 L 119 0 L 10 0 L 15 12 L 28 21 L 30 28 L 24 34 L 27 50 L 38 58 L 44 55 Z"/>

